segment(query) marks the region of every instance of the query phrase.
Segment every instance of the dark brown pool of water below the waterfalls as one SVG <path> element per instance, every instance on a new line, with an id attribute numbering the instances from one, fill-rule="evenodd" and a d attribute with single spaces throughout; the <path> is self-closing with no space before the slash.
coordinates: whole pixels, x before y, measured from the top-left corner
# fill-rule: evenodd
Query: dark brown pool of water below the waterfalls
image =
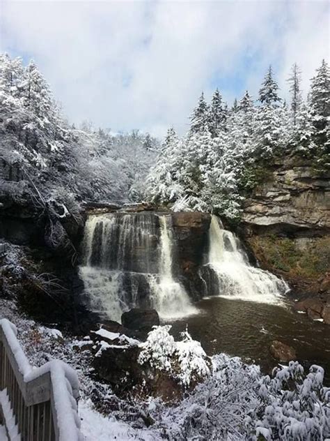
<path id="1" fill-rule="evenodd" d="M 200 313 L 171 322 L 171 334 L 178 336 L 188 325 L 192 338 L 201 341 L 207 354 L 226 352 L 245 361 L 260 364 L 263 373 L 277 365 L 269 354 L 273 340 L 297 352 L 298 361 L 308 368 L 319 364 L 330 384 L 330 327 L 313 322 L 292 306 L 277 306 L 221 297 L 203 299 L 196 304 Z"/>

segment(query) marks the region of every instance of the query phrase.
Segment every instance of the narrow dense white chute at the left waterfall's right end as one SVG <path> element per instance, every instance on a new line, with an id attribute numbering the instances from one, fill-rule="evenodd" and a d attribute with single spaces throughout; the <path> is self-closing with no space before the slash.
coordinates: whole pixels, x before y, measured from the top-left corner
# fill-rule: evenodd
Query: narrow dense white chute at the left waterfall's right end
<path id="1" fill-rule="evenodd" d="M 159 314 L 166 318 L 194 314 L 197 310 L 191 305 L 186 290 L 173 278 L 171 216 L 159 216 L 159 223 L 161 226 L 159 281 L 154 281 L 152 285 L 152 304 Z"/>

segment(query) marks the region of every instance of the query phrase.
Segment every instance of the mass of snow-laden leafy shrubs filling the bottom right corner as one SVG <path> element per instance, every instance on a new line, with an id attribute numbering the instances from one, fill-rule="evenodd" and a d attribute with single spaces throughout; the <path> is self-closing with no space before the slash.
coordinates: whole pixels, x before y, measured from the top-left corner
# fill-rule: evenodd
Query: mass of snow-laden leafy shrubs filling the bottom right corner
<path id="1" fill-rule="evenodd" d="M 317 441 L 330 436 L 330 389 L 323 369 L 297 361 L 261 375 L 238 357 L 212 358 L 214 372 L 163 415 L 170 440 Z"/>

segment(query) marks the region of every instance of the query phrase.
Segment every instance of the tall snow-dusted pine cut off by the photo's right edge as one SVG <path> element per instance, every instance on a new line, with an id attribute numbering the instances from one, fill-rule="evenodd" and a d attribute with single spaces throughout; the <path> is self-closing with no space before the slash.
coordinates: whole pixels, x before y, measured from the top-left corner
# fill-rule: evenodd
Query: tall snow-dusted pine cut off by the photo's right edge
<path id="1" fill-rule="evenodd" d="M 315 142 L 322 148 L 329 147 L 330 73 L 325 60 L 322 61 L 312 79 L 310 102 L 315 127 Z"/>

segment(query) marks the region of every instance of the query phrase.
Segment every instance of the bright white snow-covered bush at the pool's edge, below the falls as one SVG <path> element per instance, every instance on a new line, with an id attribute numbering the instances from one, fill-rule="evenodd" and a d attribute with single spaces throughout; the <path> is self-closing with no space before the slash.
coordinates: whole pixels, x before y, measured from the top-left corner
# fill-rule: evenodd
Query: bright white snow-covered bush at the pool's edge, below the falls
<path id="1" fill-rule="evenodd" d="M 150 364 L 152 368 L 166 371 L 184 387 L 189 387 L 192 380 L 199 380 L 210 375 L 207 355 L 201 343 L 191 338 L 188 331 L 182 333 L 182 341 L 174 341 L 168 331 L 171 325 L 154 327 L 149 332 L 147 341 L 141 343 L 139 364 Z"/>

